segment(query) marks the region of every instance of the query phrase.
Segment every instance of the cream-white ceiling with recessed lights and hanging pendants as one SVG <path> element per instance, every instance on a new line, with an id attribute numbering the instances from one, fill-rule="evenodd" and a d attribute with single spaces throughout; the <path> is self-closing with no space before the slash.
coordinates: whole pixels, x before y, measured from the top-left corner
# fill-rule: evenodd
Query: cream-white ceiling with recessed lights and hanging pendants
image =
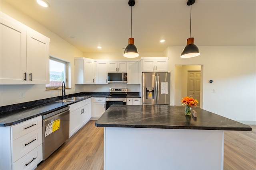
<path id="1" fill-rule="evenodd" d="M 119 53 L 128 45 L 128 0 L 48 0 L 50 8 L 42 8 L 35 0 L 7 2 L 83 52 Z M 190 37 L 190 6 L 186 0 L 136 0 L 132 37 L 139 52 L 185 47 Z M 191 37 L 197 46 L 256 45 L 256 0 L 196 0 Z M 166 41 L 160 43 L 161 39 Z"/>

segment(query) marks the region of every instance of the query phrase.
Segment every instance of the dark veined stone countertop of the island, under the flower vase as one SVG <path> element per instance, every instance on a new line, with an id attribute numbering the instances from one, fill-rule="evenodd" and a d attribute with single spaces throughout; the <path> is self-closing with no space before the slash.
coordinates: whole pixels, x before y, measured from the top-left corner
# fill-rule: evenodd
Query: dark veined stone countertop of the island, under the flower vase
<path id="1" fill-rule="evenodd" d="M 202 129 L 251 131 L 252 128 L 209 111 L 193 108 L 197 117 L 186 116 L 184 106 L 111 105 L 96 121 L 97 127 Z"/>

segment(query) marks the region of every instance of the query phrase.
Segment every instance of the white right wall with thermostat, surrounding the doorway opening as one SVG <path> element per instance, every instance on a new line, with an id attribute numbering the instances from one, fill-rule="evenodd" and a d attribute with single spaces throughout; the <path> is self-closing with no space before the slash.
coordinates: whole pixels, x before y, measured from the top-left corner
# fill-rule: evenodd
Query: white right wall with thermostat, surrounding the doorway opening
<path id="1" fill-rule="evenodd" d="M 203 65 L 201 108 L 246 124 L 256 124 L 256 47 L 201 46 L 198 47 L 201 55 L 190 59 L 180 58 L 183 48 L 168 47 L 168 71 L 175 75 L 175 65 Z M 171 105 L 174 100 L 180 100 L 174 99 L 175 85 L 178 85 L 175 80 L 171 76 L 171 94 L 174 94 Z"/>

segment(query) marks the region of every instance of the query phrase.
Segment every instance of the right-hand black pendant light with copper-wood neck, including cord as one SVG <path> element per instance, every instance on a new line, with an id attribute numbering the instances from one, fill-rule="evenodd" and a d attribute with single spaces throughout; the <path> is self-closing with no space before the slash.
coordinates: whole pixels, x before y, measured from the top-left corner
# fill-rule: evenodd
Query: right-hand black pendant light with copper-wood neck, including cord
<path id="1" fill-rule="evenodd" d="M 187 39 L 187 45 L 181 53 L 181 58 L 191 58 L 200 55 L 198 47 L 194 45 L 194 38 L 191 37 L 191 11 L 192 5 L 195 3 L 195 0 L 188 0 L 187 5 L 190 6 L 190 38 Z"/>

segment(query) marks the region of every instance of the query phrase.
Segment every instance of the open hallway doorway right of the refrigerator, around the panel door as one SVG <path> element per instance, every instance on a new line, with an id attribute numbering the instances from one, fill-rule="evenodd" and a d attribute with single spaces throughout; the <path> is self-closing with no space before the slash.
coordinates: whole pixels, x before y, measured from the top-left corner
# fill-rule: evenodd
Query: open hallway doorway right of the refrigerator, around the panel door
<path id="1" fill-rule="evenodd" d="M 202 107 L 202 74 L 203 74 L 203 65 L 175 65 L 175 84 L 174 84 L 174 105 L 182 106 L 181 99 L 193 95 L 188 93 L 188 72 L 200 72 L 200 82 L 199 86 L 199 96 L 193 96 L 198 102 L 198 107 Z M 194 92 L 194 95 L 196 93 Z M 201 98 L 201 99 L 200 99 Z"/>

